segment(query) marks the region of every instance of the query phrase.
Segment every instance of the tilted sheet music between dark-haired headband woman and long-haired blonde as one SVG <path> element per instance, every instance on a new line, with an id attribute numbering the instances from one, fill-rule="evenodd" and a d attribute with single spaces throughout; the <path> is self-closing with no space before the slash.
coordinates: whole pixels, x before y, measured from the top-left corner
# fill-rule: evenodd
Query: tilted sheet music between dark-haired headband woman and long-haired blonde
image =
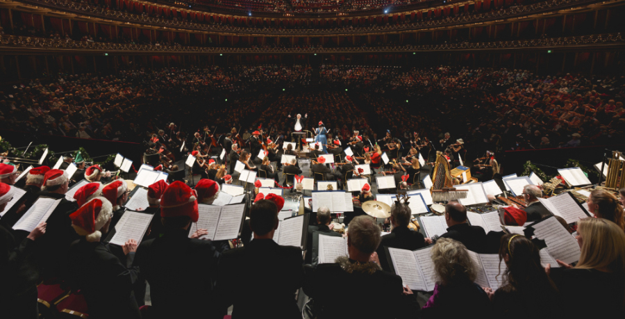
<path id="1" fill-rule="evenodd" d="M 554 259 L 560 259 L 565 263 L 573 263 L 579 260 L 579 246 L 577 240 L 569 234 L 555 217 L 550 217 L 533 224 L 534 236 L 547 243 L 547 250 Z"/>

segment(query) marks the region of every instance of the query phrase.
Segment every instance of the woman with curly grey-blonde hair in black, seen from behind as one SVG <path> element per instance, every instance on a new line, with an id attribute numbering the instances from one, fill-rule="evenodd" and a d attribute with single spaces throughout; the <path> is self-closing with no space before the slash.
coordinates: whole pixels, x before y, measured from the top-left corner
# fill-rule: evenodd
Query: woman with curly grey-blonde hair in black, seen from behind
<path id="1" fill-rule="evenodd" d="M 488 295 L 474 281 L 477 266 L 465 245 L 440 238 L 432 247 L 436 286 L 423 306 L 424 318 L 490 318 Z"/>

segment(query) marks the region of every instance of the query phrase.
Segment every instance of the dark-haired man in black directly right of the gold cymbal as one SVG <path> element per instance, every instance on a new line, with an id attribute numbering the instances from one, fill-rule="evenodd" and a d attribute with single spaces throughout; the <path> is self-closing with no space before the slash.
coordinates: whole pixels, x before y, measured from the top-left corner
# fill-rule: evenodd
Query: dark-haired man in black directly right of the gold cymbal
<path id="1" fill-rule="evenodd" d="M 410 218 L 412 218 L 412 211 L 408 205 L 403 203 L 393 204 L 390 217 L 393 230 L 390 234 L 382 236 L 380 247 L 378 247 L 377 250 L 383 270 L 390 271 L 390 264 L 384 247 L 411 251 L 426 247 L 423 234 L 419 233 L 419 231 L 412 231 L 408 228 Z"/>

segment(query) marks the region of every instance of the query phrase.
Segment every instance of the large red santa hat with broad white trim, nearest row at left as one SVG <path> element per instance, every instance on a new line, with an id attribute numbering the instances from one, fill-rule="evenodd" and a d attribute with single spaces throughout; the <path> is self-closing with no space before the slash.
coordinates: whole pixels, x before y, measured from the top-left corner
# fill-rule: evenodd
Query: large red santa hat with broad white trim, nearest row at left
<path id="1" fill-rule="evenodd" d="M 113 216 L 113 206 L 104 197 L 96 197 L 69 215 L 76 234 L 85 236 L 88 242 L 97 242 L 102 237 L 100 229 Z"/>

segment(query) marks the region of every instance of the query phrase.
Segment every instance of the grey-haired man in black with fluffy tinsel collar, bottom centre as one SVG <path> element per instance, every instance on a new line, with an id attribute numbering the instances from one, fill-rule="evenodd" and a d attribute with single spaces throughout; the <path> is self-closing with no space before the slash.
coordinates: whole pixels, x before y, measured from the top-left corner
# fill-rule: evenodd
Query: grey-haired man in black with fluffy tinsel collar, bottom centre
<path id="1" fill-rule="evenodd" d="M 337 263 L 306 267 L 303 291 L 319 306 L 319 318 L 417 318 L 419 304 L 401 278 L 381 270 L 375 253 L 380 244 L 376 220 L 360 215 L 349 223 L 347 256 Z M 336 287 L 328 279 L 349 287 L 349 293 L 336 302 Z M 384 306 L 376 306 L 383 304 Z M 346 306 L 347 305 L 347 306 Z"/>

